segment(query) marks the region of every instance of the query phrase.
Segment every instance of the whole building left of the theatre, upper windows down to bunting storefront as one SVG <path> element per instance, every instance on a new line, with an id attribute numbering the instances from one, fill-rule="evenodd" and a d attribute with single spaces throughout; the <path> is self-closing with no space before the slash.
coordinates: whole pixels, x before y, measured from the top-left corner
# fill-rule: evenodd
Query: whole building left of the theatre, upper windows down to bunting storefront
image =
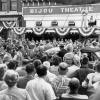
<path id="1" fill-rule="evenodd" d="M 13 27 L 24 27 L 21 0 L 0 0 L 0 36 L 8 38 L 13 35 Z"/>

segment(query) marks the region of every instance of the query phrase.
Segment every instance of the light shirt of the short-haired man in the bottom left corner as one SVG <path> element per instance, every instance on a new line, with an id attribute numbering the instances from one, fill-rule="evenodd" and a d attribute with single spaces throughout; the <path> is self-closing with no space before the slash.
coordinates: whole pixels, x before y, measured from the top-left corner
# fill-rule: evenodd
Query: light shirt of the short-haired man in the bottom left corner
<path id="1" fill-rule="evenodd" d="M 0 100 L 31 100 L 31 98 L 25 89 L 14 86 L 0 91 Z"/>

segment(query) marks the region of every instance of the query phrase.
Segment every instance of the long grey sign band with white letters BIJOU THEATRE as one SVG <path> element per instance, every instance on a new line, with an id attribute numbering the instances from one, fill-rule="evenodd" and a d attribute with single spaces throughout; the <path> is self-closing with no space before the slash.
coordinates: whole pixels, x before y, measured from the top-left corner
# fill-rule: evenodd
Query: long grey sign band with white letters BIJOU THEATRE
<path id="1" fill-rule="evenodd" d="M 100 13 L 100 4 L 23 7 L 23 15 L 81 14 L 83 10 Z"/>

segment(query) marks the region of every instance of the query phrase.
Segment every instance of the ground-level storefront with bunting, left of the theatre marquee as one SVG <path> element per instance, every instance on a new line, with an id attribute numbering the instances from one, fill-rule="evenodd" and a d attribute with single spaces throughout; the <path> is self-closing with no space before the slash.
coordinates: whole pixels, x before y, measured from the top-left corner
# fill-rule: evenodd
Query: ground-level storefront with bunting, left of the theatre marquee
<path id="1" fill-rule="evenodd" d="M 4 39 L 16 38 L 17 33 L 14 29 L 22 27 L 22 21 L 21 12 L 2 12 L 0 15 L 0 36 Z"/>

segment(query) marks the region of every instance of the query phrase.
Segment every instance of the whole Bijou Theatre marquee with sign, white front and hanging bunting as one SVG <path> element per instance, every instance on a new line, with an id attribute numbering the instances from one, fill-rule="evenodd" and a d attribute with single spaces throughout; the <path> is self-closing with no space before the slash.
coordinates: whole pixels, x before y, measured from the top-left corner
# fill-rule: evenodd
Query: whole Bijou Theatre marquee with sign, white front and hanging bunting
<path id="1" fill-rule="evenodd" d="M 69 33 L 78 33 L 87 37 L 91 34 L 99 34 L 99 9 L 100 4 L 24 6 L 22 12 L 26 21 L 26 28 L 30 28 L 31 32 L 36 35 L 53 32 L 61 37 Z M 91 16 L 96 22 L 93 26 L 89 26 Z"/>

